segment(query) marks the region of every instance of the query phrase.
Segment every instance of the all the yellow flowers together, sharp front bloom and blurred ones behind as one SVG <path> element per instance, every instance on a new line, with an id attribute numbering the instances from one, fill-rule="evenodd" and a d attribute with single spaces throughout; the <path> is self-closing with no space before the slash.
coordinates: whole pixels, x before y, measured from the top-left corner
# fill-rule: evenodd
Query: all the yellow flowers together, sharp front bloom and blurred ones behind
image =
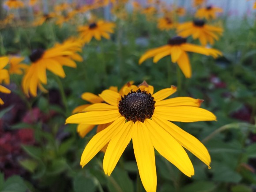
<path id="1" fill-rule="evenodd" d="M 120 8 L 124 8 L 123 5 L 126 2 L 125 0 L 119 2 L 113 0 L 110 3 L 113 4 L 113 11 L 120 13 Z M 38 0 L 34 0 L 33 3 L 30 0 L 30 6 L 37 3 Z M 158 20 L 158 28 L 160 30 L 176 29 L 177 36 L 169 39 L 167 45 L 148 50 L 140 57 L 139 64 L 151 57 L 154 57 L 153 62 L 156 63 L 169 55 L 172 62 L 177 63 L 181 68 L 185 77 L 191 78 L 192 69 L 187 52 L 213 57 L 221 56 L 220 51 L 206 47 L 206 45 L 208 43 L 213 45 L 223 30 L 221 27 L 206 24 L 206 21 L 215 19 L 216 12 L 222 10 L 213 6 L 203 8 L 204 3 L 204 0 L 195 0 L 194 5 L 198 8 L 195 15 L 197 19 L 181 24 L 177 23 L 174 15 L 182 15 L 185 10 L 175 8 L 172 9 L 174 11 L 169 11 L 164 4 L 161 4 L 164 16 Z M 24 6 L 19 0 L 8 0 L 5 4 L 9 8 Z M 60 4 L 54 8 L 54 14 L 65 12 L 65 16 L 60 14 L 56 23 L 62 24 L 76 14 L 108 4 L 109 0 L 98 0 L 94 4 L 76 7 L 68 12 L 69 5 Z M 149 0 L 149 6 L 143 8 L 140 4 L 134 3 L 134 11 L 139 10 L 146 15 L 154 15 L 157 11 L 154 4 L 160 4 L 160 1 L 151 4 L 152 1 Z M 56 17 L 54 14 L 41 15 L 38 17 L 38 23 L 34 23 L 34 25 L 40 25 L 50 17 Z M 84 44 L 89 43 L 92 38 L 98 41 L 102 37 L 109 39 L 110 34 L 114 33 L 114 28 L 115 23 L 103 20 L 95 21 L 95 19 L 89 21 L 87 25 L 78 26 L 79 38 L 68 38 L 61 44 L 56 43 L 50 49 L 33 50 L 29 56 L 30 65 L 21 63 L 25 59 L 24 57 L 2 56 L 0 57 L 0 83 L 9 84 L 9 74 L 22 74 L 24 71 L 22 87 L 27 96 L 36 97 L 38 88 L 47 92 L 44 87 L 47 84 L 46 70 L 64 78 L 63 66 L 75 68 L 75 61 L 83 61 L 78 52 L 82 51 Z M 201 45 L 188 43 L 186 38 L 191 35 L 193 39 L 199 39 Z M 8 64 L 9 67 L 6 69 Z M 84 93 L 82 98 L 90 104 L 75 108 L 73 113 L 76 114 L 66 120 L 67 124 L 79 124 L 77 131 L 81 137 L 85 137 L 95 125 L 98 125 L 97 134 L 83 151 L 81 166 L 85 166 L 98 151 L 102 150 L 105 152 L 103 169 L 105 174 L 110 175 L 132 139 L 139 175 L 147 191 L 156 191 L 157 186 L 154 148 L 188 177 L 194 175 L 194 169 L 184 148 L 196 155 L 210 168 L 211 158 L 206 147 L 194 136 L 170 121 L 195 122 L 216 120 L 216 117 L 206 109 L 200 108 L 200 104 L 203 102 L 200 99 L 168 98 L 176 90 L 176 87 L 171 86 L 154 93 L 154 87 L 146 82 L 138 86 L 129 82 L 119 91 L 117 87 L 110 87 L 99 95 Z M 11 92 L 2 85 L 0 85 L 0 91 L 6 94 Z M 4 104 L 1 99 L 0 104 Z"/>

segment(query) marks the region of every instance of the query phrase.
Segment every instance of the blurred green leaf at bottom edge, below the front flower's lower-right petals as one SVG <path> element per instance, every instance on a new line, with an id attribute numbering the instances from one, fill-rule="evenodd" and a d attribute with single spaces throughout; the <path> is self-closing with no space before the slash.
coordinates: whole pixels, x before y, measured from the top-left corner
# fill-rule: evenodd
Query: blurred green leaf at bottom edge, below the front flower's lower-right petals
<path id="1" fill-rule="evenodd" d="M 195 181 L 181 188 L 180 192 L 212 192 L 216 188 L 211 181 Z"/>

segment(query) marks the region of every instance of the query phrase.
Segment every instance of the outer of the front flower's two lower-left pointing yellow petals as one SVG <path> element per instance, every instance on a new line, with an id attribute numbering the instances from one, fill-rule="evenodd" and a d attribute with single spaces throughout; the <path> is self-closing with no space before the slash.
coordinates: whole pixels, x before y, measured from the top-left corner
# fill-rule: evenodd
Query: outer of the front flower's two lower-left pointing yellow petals
<path id="1" fill-rule="evenodd" d="M 123 127 L 124 123 L 125 118 L 119 117 L 109 127 L 97 133 L 85 147 L 80 165 L 85 166 L 117 134 L 118 129 Z"/>

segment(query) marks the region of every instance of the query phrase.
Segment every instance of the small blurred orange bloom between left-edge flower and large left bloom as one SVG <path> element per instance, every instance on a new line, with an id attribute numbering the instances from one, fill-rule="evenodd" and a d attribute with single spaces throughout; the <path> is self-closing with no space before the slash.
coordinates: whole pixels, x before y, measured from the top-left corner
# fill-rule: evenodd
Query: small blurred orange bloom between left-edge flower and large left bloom
<path id="1" fill-rule="evenodd" d="M 28 65 L 21 63 L 24 59 L 23 56 L 11 56 L 9 73 L 22 75 L 23 71 L 28 68 Z"/>

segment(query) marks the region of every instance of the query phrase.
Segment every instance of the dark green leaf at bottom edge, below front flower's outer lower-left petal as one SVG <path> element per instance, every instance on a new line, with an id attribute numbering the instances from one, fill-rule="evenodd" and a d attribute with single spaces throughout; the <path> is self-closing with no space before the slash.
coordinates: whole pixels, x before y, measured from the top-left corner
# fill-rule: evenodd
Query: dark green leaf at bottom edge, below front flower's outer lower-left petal
<path id="1" fill-rule="evenodd" d="M 93 178 L 86 177 L 84 175 L 77 175 L 73 181 L 73 187 L 75 192 L 95 192 L 96 182 Z"/>

